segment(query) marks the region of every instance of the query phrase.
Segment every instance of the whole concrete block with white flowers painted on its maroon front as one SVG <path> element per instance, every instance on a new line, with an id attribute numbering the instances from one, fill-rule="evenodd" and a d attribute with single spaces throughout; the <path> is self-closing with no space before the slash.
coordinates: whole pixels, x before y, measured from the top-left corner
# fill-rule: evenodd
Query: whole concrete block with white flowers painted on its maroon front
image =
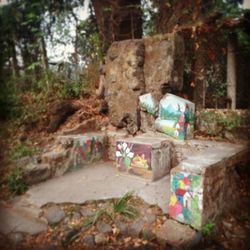
<path id="1" fill-rule="evenodd" d="M 118 140 L 116 164 L 119 171 L 157 180 L 170 172 L 170 143 L 155 137 Z"/>

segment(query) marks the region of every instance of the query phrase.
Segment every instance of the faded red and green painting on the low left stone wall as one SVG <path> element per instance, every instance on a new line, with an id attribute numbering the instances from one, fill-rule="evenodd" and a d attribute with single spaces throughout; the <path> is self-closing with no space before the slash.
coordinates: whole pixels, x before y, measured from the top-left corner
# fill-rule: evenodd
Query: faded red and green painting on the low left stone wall
<path id="1" fill-rule="evenodd" d="M 76 150 L 83 161 L 92 162 L 100 160 L 103 156 L 103 144 L 97 138 L 92 137 L 86 141 L 76 142 Z"/>

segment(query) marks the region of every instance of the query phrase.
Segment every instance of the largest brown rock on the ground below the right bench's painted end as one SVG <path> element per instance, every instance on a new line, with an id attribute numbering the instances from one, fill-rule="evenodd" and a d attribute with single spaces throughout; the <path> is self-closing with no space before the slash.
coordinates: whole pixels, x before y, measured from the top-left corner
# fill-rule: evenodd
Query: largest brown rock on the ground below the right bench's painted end
<path id="1" fill-rule="evenodd" d="M 156 237 L 159 243 L 176 248 L 188 249 L 197 245 L 201 240 L 201 233 L 196 232 L 187 225 L 173 220 L 167 220 L 157 231 Z"/>

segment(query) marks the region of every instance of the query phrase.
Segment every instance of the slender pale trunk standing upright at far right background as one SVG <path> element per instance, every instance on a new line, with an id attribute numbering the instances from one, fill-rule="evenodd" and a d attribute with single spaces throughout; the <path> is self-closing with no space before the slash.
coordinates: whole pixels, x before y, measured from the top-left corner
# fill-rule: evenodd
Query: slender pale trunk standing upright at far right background
<path id="1" fill-rule="evenodd" d="M 230 36 L 227 44 L 227 97 L 231 101 L 231 109 L 236 109 L 236 37 Z"/>

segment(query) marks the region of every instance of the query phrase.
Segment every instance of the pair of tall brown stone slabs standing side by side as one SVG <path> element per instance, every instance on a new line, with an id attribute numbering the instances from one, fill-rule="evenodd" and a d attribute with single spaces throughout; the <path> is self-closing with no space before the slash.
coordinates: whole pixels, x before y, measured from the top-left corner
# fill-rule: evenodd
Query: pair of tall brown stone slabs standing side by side
<path id="1" fill-rule="evenodd" d="M 184 42 L 177 34 L 113 43 L 105 67 L 110 122 L 131 134 L 141 124 L 143 131 L 150 128 L 153 117 L 140 114 L 139 96 L 151 93 L 159 102 L 167 92 L 182 90 L 183 62 Z"/>

